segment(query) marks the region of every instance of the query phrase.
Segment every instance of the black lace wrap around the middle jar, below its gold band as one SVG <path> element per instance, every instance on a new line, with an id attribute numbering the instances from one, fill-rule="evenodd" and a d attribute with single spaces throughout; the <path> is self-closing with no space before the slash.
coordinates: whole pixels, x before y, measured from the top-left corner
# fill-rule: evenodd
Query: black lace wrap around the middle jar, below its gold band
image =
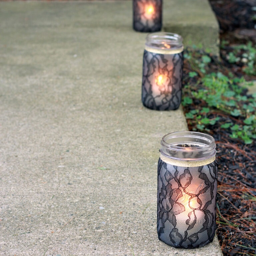
<path id="1" fill-rule="evenodd" d="M 182 69 L 183 52 L 160 54 L 144 50 L 143 105 L 153 110 L 177 109 L 181 103 Z"/>

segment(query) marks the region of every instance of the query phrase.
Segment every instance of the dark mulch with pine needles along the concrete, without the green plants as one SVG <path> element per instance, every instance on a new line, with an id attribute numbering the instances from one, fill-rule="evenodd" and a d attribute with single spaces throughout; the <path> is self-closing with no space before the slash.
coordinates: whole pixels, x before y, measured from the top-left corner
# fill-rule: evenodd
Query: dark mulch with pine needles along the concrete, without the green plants
<path id="1" fill-rule="evenodd" d="M 251 8 L 253 1 L 210 0 L 220 23 L 220 39 L 228 41 L 228 45 L 221 48 L 221 60 L 205 52 L 193 53 L 194 58 L 200 54 L 207 54 L 211 58 L 211 63 L 206 67 L 207 73 L 221 71 L 227 75 L 232 72 L 235 76 L 244 76 L 246 80 L 256 79 L 243 72 L 243 63 L 230 64 L 226 59 L 233 45 L 254 41 L 253 37 L 240 35 L 238 38 L 235 34 L 238 33 L 237 29 L 255 30 L 255 20 L 251 18 L 254 15 Z M 184 84 L 196 85 L 197 79 L 188 75 L 192 71 L 185 59 Z M 246 94 L 246 90 L 243 93 Z M 184 112 L 203 107 L 207 107 L 203 101 L 193 99 L 191 106 L 184 107 Z M 216 141 L 219 163 L 216 233 L 224 256 L 256 255 L 256 143 L 244 144 L 238 139 L 232 139 L 227 129 L 220 127 L 231 119 L 239 124 L 239 118 L 219 111 L 212 113 L 212 117 L 216 116 L 220 117 L 219 122 L 208 127 L 208 133 Z M 191 131 L 195 127 L 193 121 L 188 122 L 188 125 Z"/>

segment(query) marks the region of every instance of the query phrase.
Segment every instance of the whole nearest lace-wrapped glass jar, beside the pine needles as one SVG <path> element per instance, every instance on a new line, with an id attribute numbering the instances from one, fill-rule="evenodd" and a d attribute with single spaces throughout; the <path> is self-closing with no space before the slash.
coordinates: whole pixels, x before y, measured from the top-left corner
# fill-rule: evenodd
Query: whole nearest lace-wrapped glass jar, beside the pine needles
<path id="1" fill-rule="evenodd" d="M 218 164 L 215 141 L 199 132 L 174 132 L 161 141 L 158 161 L 157 233 L 176 248 L 213 241 Z"/>

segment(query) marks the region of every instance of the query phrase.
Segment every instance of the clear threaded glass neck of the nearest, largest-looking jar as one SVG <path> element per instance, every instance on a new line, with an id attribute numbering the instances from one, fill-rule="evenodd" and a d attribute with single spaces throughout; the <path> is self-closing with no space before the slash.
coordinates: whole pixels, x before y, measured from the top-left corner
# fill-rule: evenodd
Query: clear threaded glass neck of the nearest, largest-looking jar
<path id="1" fill-rule="evenodd" d="M 177 161 L 204 161 L 215 159 L 214 138 L 200 132 L 174 132 L 161 140 L 160 153 Z"/>

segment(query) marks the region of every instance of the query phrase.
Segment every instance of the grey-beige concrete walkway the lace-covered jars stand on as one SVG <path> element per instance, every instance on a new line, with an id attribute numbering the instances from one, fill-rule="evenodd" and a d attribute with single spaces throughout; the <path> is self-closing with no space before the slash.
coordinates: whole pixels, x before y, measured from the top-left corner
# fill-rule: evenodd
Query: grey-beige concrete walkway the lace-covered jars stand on
<path id="1" fill-rule="evenodd" d="M 131 1 L 0 2 L 1 256 L 222 255 L 157 238 L 160 140 L 187 125 L 142 106 L 131 19 Z"/>

